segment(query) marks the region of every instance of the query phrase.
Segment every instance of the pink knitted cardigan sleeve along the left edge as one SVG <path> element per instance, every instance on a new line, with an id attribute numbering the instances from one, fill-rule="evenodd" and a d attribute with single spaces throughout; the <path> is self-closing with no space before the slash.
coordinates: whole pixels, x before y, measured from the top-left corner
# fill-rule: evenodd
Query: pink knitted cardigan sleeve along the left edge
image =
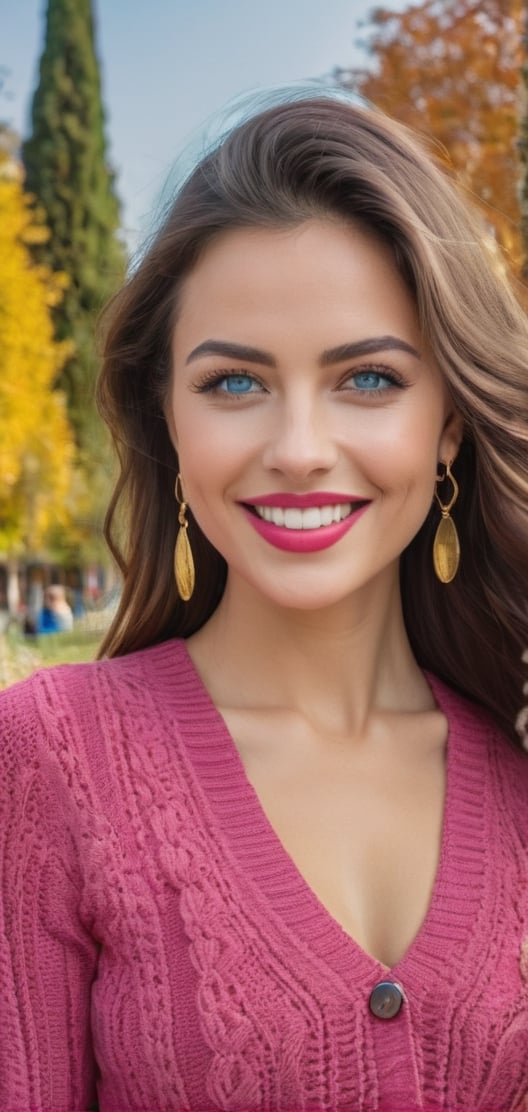
<path id="1" fill-rule="evenodd" d="M 86 1110 L 96 1096 L 98 947 L 79 907 L 74 804 L 37 675 L 0 693 L 0 1108 Z"/>

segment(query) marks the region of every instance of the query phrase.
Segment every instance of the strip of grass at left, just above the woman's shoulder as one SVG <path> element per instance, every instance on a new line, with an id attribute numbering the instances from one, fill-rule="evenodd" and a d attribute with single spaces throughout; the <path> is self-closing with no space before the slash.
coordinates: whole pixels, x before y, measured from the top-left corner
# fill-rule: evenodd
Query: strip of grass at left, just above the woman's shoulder
<path id="1" fill-rule="evenodd" d="M 0 634 L 0 688 L 53 664 L 93 661 L 101 642 L 100 631 L 73 629 L 24 637 L 20 629 Z"/>

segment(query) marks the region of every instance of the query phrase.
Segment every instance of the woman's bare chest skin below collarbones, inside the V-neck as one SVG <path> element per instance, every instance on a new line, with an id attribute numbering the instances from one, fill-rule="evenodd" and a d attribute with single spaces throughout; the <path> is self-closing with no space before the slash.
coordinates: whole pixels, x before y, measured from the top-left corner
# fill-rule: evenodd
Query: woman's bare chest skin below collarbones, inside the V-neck
<path id="1" fill-rule="evenodd" d="M 346 737 L 281 735 L 231 715 L 258 804 L 323 907 L 368 954 L 391 966 L 426 915 L 441 855 L 445 726 L 353 747 Z M 432 738 L 420 738 L 420 728 Z M 408 728 L 408 727 L 407 727 Z M 295 731 L 293 731 L 295 735 Z"/>

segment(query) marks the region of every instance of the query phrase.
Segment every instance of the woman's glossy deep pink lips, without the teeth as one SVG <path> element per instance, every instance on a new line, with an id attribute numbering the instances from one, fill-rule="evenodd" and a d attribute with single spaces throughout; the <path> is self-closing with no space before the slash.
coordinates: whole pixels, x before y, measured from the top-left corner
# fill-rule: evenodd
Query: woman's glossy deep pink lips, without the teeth
<path id="1" fill-rule="evenodd" d="M 351 513 L 342 522 L 321 525 L 317 529 L 287 529 L 283 526 L 273 525 L 272 522 L 265 522 L 248 509 L 248 506 L 279 506 L 282 509 L 290 507 L 303 509 L 310 506 L 330 506 L 347 502 L 352 507 L 357 504 L 357 509 L 352 508 Z M 283 552 L 289 553 L 317 553 L 322 552 L 325 548 L 330 548 L 331 545 L 340 540 L 351 529 L 352 525 L 356 524 L 361 514 L 368 509 L 370 502 L 363 498 L 355 498 L 350 495 L 333 494 L 325 490 L 306 495 L 263 495 L 260 498 L 248 498 L 246 503 L 241 503 L 240 505 L 253 529 L 268 544 L 273 545 L 275 548 L 281 548 Z"/>

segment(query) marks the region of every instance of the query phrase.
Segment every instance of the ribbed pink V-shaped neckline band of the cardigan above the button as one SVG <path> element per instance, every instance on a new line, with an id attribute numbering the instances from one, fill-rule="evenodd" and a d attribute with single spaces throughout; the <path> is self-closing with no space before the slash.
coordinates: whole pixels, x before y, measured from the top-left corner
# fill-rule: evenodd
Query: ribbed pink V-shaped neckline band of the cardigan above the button
<path id="1" fill-rule="evenodd" d="M 188 755 L 231 854 L 272 914 L 335 973 L 366 981 L 422 980 L 445 974 L 446 946 L 460 960 L 480 903 L 485 872 L 485 752 L 475 737 L 475 709 L 426 674 L 448 722 L 447 784 L 439 862 L 425 919 L 391 967 L 368 954 L 309 886 L 271 825 L 228 726 L 185 642 L 171 643 L 179 685 L 178 721 Z M 472 727 L 472 728 L 471 728 Z"/>

